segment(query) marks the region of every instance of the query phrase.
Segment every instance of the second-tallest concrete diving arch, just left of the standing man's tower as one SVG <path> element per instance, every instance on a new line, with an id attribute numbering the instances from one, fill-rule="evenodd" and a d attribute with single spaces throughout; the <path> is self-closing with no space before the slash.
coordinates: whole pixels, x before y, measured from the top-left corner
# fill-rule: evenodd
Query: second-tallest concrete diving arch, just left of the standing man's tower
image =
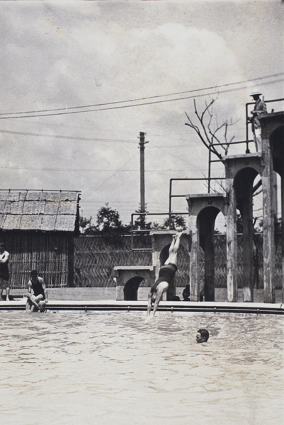
<path id="1" fill-rule="evenodd" d="M 269 187 L 267 164 L 263 153 L 224 157 L 226 171 L 227 209 L 227 297 L 237 301 L 237 209 L 241 212 L 244 227 L 244 301 L 253 301 L 253 229 L 252 194 L 256 176 L 262 185 Z M 263 191 L 264 193 L 264 191 Z M 266 191 L 266 193 L 268 193 Z M 263 213 L 264 216 L 264 213 Z"/>

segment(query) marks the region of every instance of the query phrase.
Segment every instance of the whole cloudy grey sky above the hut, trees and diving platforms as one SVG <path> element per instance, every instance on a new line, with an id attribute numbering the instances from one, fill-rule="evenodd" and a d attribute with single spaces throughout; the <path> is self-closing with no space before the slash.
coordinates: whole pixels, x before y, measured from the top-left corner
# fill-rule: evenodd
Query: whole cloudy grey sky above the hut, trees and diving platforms
<path id="1" fill-rule="evenodd" d="M 106 203 L 125 223 L 140 207 L 140 132 L 147 210 L 167 212 L 169 179 L 208 173 L 185 125 L 193 98 L 200 111 L 216 98 L 235 140 L 251 91 L 284 98 L 280 0 L 0 1 L 0 12 L 1 188 L 81 191 L 93 221 Z"/>

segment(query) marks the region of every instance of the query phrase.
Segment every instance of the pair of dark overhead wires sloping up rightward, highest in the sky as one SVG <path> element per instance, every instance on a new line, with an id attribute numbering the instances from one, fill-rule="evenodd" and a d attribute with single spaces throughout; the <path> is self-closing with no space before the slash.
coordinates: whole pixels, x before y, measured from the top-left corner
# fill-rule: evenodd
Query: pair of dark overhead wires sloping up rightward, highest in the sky
<path id="1" fill-rule="evenodd" d="M 109 110 L 112 110 L 112 109 L 133 108 L 135 106 L 144 106 L 144 105 L 152 105 L 152 104 L 156 104 L 156 103 L 166 103 L 166 102 L 180 101 L 180 100 L 193 98 L 193 97 L 211 96 L 212 94 L 227 93 L 227 92 L 230 92 L 230 91 L 246 89 L 246 86 L 242 86 L 242 87 L 237 87 L 236 89 L 225 89 L 225 90 L 221 90 L 221 91 L 219 91 L 219 90 L 216 91 L 217 89 L 220 89 L 222 87 L 235 86 L 235 85 L 239 85 L 239 84 L 247 84 L 247 83 L 251 83 L 251 82 L 259 81 L 259 80 L 263 80 L 263 79 L 279 77 L 280 75 L 283 75 L 283 74 L 284 74 L 284 72 L 280 72 L 278 74 L 271 74 L 271 75 L 268 75 L 266 77 L 258 77 L 258 78 L 254 78 L 254 79 L 237 81 L 237 82 L 234 82 L 234 83 L 220 84 L 220 85 L 217 85 L 217 86 L 205 87 L 203 89 L 194 89 L 194 90 L 180 91 L 180 92 L 172 93 L 172 94 L 163 94 L 163 95 L 149 96 L 149 97 L 144 97 L 144 98 L 135 98 L 135 99 L 127 100 L 127 101 L 116 101 L 116 102 L 109 102 L 109 103 L 95 103 L 95 104 L 86 105 L 86 106 L 72 106 L 72 107 L 68 107 L 68 108 L 45 109 L 45 110 L 38 110 L 38 111 L 0 113 L 0 115 L 8 115 L 8 116 L 0 116 L 0 119 L 4 120 L 4 119 L 13 119 L 13 118 L 31 118 L 31 117 L 54 116 L 54 115 L 69 115 L 69 114 L 74 114 L 74 113 L 109 111 Z M 274 81 L 264 81 L 264 82 L 259 83 L 259 84 L 272 84 L 272 83 L 276 83 L 276 82 L 279 82 L 279 81 L 283 81 L 283 79 L 278 79 L 278 80 L 274 80 Z M 131 103 L 131 102 L 137 102 L 137 101 L 145 101 L 145 100 L 154 99 L 154 98 L 178 96 L 178 95 L 187 94 L 187 93 L 192 94 L 192 93 L 197 93 L 199 91 L 207 91 L 207 90 L 212 90 L 212 89 L 214 89 L 215 91 L 213 91 L 211 93 L 205 93 L 205 94 L 196 94 L 195 96 L 183 96 L 183 97 L 173 98 L 173 99 L 164 99 L 164 100 L 161 100 L 161 101 L 133 103 L 131 105 L 123 105 L 123 106 L 111 106 L 111 105 L 117 105 L 118 103 Z M 98 108 L 99 106 L 109 106 L 109 107 L 108 108 Z M 83 111 L 70 111 L 72 109 L 94 108 L 94 107 L 96 107 L 96 109 L 88 109 L 88 110 L 83 110 Z M 57 111 L 57 112 L 55 112 L 55 111 Z M 64 111 L 64 112 L 58 112 L 58 111 Z M 22 115 L 22 114 L 29 114 L 29 115 Z M 36 115 L 31 115 L 31 114 L 36 114 Z M 11 116 L 11 115 L 15 115 L 15 116 Z"/>

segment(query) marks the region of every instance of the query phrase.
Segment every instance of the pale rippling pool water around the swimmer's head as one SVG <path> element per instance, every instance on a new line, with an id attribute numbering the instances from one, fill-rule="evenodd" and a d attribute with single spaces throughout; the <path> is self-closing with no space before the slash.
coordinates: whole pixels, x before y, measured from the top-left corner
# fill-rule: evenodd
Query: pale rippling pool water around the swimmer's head
<path id="1" fill-rule="evenodd" d="M 1 424 L 284 424 L 283 316 L 144 319 L 1 312 Z"/>

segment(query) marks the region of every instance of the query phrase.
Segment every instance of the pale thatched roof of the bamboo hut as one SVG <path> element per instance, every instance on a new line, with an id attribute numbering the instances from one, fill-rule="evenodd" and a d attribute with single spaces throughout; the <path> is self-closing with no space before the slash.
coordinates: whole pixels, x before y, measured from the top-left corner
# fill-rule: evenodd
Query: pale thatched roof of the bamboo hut
<path id="1" fill-rule="evenodd" d="M 79 192 L 0 191 L 1 230 L 74 232 L 79 222 Z"/>

